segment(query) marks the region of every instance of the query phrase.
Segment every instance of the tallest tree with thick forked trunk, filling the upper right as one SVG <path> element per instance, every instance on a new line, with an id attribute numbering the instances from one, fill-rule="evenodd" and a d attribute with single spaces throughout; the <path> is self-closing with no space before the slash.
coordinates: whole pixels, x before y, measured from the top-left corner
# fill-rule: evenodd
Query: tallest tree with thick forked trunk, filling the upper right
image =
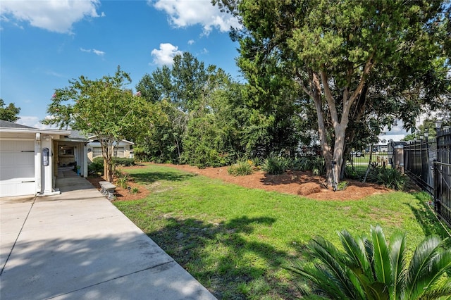
<path id="1" fill-rule="evenodd" d="M 440 97 L 450 70 L 444 1 L 213 2 L 243 25 L 232 37 L 249 84 L 264 94 L 283 77 L 314 104 L 329 185 L 354 140 L 350 126 L 400 118 L 412 127 L 425 104 L 449 101 Z"/>

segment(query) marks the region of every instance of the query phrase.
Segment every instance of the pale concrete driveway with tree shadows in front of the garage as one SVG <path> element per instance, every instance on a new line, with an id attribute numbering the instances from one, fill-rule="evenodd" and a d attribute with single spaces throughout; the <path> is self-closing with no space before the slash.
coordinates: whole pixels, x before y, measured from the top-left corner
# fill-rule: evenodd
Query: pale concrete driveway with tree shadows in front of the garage
<path id="1" fill-rule="evenodd" d="M 97 189 L 0 198 L 0 299 L 215 299 Z"/>

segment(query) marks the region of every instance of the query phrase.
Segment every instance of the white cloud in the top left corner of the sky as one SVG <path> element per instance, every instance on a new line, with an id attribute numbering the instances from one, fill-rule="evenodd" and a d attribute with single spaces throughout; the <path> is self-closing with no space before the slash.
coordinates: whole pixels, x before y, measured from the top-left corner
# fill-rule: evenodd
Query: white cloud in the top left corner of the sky
<path id="1" fill-rule="evenodd" d="M 83 18 L 97 18 L 99 0 L 1 1 L 1 20 L 17 24 L 30 23 L 34 27 L 58 33 L 72 33 L 73 23 Z"/>

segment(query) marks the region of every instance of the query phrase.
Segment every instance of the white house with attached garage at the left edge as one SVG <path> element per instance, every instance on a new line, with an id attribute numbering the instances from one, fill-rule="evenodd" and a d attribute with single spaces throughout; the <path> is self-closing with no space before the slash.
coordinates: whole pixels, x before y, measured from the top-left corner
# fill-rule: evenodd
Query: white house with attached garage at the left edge
<path id="1" fill-rule="evenodd" d="M 85 139 L 70 130 L 46 130 L 0 120 L 0 197 L 59 194 L 58 167 L 87 176 Z"/>

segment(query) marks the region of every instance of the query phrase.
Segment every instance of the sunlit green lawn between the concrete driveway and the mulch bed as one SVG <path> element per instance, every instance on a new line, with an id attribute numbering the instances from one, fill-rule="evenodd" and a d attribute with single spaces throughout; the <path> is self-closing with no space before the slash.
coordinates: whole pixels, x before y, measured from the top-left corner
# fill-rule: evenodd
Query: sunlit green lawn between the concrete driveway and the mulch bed
<path id="1" fill-rule="evenodd" d="M 316 235 L 338 245 L 338 230 L 362 235 L 380 224 L 387 236 L 407 231 L 413 248 L 426 235 L 443 234 L 424 194 L 315 201 L 161 165 L 128 173 L 151 194 L 114 204 L 218 299 L 300 296 L 297 279 L 283 267 L 304 258 L 305 244 Z"/>

